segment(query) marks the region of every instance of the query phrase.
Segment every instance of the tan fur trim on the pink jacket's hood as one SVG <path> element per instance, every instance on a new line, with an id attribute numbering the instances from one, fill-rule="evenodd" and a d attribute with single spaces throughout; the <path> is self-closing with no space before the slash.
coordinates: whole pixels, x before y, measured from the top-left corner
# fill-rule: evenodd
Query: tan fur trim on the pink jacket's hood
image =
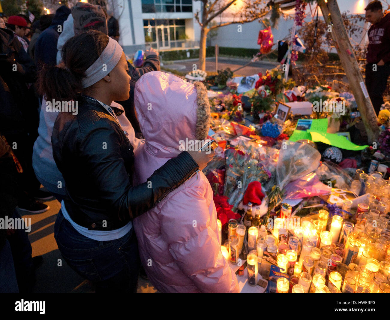
<path id="1" fill-rule="evenodd" d="M 207 89 L 202 82 L 194 83 L 197 91 L 197 121 L 195 129 L 195 139 L 204 140 L 210 128 L 210 102 L 207 97 Z"/>

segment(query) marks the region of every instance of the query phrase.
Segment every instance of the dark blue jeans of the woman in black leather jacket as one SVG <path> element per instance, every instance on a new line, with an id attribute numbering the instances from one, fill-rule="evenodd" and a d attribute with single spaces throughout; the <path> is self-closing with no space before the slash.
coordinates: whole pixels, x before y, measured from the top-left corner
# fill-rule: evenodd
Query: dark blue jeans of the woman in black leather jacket
<path id="1" fill-rule="evenodd" d="M 92 240 L 78 233 L 60 210 L 54 237 L 66 263 L 84 279 L 92 281 L 96 293 L 137 292 L 141 262 L 133 228 L 116 240 Z"/>

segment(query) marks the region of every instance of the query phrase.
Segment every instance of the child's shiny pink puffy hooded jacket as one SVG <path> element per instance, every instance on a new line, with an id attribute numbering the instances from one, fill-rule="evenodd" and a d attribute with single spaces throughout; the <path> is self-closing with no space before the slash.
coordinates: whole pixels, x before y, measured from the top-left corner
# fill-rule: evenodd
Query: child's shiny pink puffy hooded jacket
<path id="1" fill-rule="evenodd" d="M 146 139 L 135 152 L 135 183 L 175 157 L 179 141 L 195 139 L 197 90 L 152 71 L 135 85 L 135 108 Z M 239 292 L 222 255 L 213 191 L 199 172 L 134 220 L 142 265 L 160 292 Z"/>

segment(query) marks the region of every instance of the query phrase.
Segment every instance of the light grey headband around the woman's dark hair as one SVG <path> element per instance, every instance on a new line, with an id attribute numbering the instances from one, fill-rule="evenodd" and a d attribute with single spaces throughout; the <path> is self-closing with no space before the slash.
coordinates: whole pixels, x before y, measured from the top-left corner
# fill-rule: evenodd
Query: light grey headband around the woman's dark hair
<path id="1" fill-rule="evenodd" d="M 82 88 L 87 88 L 108 75 L 121 59 L 122 52 L 123 49 L 119 43 L 109 38 L 100 57 L 85 71 L 86 76 L 82 80 Z"/>

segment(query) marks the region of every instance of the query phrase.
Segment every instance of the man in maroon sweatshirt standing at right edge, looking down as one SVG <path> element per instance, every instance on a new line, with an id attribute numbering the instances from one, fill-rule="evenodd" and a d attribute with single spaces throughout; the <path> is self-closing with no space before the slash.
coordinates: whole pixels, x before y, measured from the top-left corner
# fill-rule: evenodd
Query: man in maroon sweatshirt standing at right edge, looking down
<path id="1" fill-rule="evenodd" d="M 371 23 L 368 30 L 365 82 L 372 105 L 378 114 L 390 75 L 390 13 L 383 14 L 382 4 L 378 0 L 370 2 L 365 11 L 366 21 Z"/>

